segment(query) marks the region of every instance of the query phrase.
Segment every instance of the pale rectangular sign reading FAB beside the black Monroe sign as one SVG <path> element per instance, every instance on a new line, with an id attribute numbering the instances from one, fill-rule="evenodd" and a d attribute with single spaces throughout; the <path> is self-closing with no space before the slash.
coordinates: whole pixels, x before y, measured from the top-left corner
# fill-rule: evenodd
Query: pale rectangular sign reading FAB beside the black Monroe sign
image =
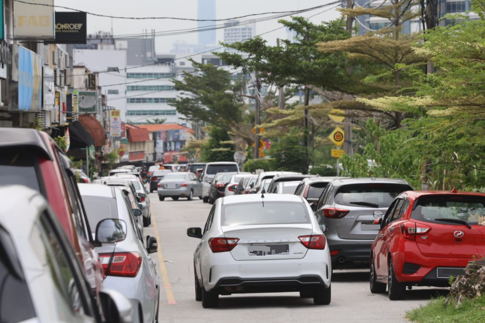
<path id="1" fill-rule="evenodd" d="M 14 39 L 54 40 L 54 0 L 14 1 Z"/>

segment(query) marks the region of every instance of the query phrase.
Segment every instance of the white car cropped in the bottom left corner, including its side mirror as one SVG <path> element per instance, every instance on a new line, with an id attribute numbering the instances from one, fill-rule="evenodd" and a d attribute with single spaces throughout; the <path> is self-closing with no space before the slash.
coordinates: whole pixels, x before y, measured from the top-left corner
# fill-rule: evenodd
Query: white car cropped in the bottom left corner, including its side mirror
<path id="1" fill-rule="evenodd" d="M 131 306 L 117 291 L 100 290 L 98 310 L 84 268 L 39 191 L 5 185 L 0 204 L 0 322 L 131 322 Z"/>

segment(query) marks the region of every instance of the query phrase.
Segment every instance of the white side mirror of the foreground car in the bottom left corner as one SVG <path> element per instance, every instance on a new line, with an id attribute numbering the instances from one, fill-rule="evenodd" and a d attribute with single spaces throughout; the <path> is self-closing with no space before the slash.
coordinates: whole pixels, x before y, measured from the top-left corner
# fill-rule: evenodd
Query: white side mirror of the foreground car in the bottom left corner
<path id="1" fill-rule="evenodd" d="M 115 290 L 102 289 L 99 300 L 106 323 L 132 323 L 131 303 L 125 295 Z"/>

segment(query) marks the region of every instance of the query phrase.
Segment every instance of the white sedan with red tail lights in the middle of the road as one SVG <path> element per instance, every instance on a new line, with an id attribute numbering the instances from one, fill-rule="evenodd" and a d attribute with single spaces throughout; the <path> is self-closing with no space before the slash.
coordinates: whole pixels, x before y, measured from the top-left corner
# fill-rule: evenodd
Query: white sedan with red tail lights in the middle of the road
<path id="1" fill-rule="evenodd" d="M 325 228 L 323 227 L 323 230 Z M 219 295 L 291 292 L 330 303 L 330 252 L 308 203 L 291 194 L 232 195 L 216 200 L 194 253 L 195 299 L 217 307 Z"/>

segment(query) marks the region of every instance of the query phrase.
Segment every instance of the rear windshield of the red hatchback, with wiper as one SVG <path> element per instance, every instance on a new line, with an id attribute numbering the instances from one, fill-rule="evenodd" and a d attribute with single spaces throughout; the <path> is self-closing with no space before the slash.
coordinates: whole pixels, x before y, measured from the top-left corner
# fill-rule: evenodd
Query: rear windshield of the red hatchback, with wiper
<path id="1" fill-rule="evenodd" d="M 485 197 L 470 195 L 421 196 L 413 205 L 411 218 L 415 220 L 459 225 L 466 221 L 478 224 L 478 218 L 485 216 Z"/>

